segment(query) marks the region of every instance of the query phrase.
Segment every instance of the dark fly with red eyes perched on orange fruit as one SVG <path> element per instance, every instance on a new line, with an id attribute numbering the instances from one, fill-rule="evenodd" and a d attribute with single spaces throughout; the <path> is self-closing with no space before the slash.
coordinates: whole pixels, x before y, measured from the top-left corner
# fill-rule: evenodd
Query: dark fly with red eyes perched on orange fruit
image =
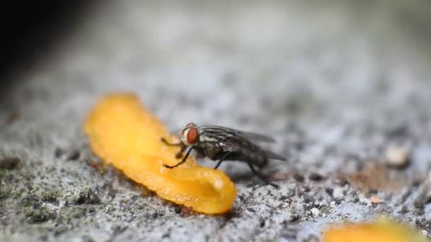
<path id="1" fill-rule="evenodd" d="M 186 152 L 186 155 L 179 163 L 174 166 L 165 164 L 164 167 L 166 168 L 175 168 L 181 165 L 189 157 L 191 151 L 195 149 L 199 155 L 203 157 L 208 156 L 209 159 L 218 161 L 214 169 L 217 169 L 223 161 L 244 161 L 248 164 L 254 175 L 265 180 L 256 171 L 254 166 L 262 168 L 267 165 L 268 159 L 286 161 L 286 158 L 283 156 L 263 149 L 250 141 L 254 139 L 260 142 L 275 142 L 271 137 L 230 129 L 228 127 L 213 125 L 197 126 L 193 122 L 190 122 L 179 132 L 179 139 L 180 142 L 178 144 L 170 144 L 166 139 L 162 138 L 162 142 L 165 144 L 181 147 L 176 155 L 177 158 L 181 158 L 184 151 L 190 146 L 189 151 Z M 274 183 L 269 184 L 278 187 Z"/>

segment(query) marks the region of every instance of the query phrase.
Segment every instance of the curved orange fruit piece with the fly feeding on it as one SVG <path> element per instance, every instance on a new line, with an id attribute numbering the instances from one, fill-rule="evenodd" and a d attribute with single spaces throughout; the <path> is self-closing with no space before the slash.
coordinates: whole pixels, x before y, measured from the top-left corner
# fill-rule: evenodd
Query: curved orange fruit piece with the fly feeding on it
<path id="1" fill-rule="evenodd" d="M 193 158 L 177 168 L 179 147 L 160 141 L 177 142 L 166 127 L 145 109 L 131 93 L 102 98 L 84 124 L 91 149 L 105 163 L 123 171 L 160 197 L 191 207 L 196 212 L 220 214 L 233 206 L 237 190 L 225 173 L 198 166 Z"/>

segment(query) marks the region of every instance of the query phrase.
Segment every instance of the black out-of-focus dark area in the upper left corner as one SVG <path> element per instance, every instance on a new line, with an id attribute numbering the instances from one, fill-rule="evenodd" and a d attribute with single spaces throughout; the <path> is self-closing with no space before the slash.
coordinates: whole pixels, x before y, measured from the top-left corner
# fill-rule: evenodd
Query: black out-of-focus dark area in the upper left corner
<path id="1" fill-rule="evenodd" d="M 34 67 L 38 60 L 73 33 L 91 14 L 96 1 L 38 1 L 2 4 L 3 80 L 13 81 L 16 71 Z"/>

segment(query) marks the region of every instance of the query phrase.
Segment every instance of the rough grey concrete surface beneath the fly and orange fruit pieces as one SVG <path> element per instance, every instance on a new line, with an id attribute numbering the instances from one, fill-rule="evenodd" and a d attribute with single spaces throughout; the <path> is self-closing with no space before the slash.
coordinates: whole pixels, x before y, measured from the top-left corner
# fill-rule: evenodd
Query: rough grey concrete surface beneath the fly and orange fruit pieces
<path id="1" fill-rule="evenodd" d="M 428 1 L 93 8 L 2 93 L 0 241 L 310 241 L 381 214 L 431 233 Z M 172 130 L 278 139 L 289 162 L 262 173 L 281 188 L 225 163 L 235 205 L 207 216 L 99 172 L 81 127 L 110 91 L 138 93 Z"/>

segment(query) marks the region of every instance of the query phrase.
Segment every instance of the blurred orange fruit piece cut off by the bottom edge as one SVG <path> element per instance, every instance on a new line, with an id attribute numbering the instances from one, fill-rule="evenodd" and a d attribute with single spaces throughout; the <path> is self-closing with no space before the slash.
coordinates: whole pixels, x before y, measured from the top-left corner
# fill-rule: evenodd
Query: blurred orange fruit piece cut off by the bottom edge
<path id="1" fill-rule="evenodd" d="M 346 223 L 334 226 L 323 234 L 323 242 L 425 242 L 429 241 L 414 229 L 390 219 L 370 223 Z"/>

